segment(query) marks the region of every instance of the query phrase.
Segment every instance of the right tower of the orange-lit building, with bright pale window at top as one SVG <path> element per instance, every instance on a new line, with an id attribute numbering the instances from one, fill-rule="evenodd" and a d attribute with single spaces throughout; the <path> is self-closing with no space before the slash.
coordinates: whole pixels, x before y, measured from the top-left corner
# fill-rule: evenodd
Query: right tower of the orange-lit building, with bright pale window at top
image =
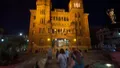
<path id="1" fill-rule="evenodd" d="M 76 45 L 80 48 L 90 48 L 89 14 L 84 13 L 83 0 L 70 0 L 69 13 L 70 20 L 75 26 Z"/>

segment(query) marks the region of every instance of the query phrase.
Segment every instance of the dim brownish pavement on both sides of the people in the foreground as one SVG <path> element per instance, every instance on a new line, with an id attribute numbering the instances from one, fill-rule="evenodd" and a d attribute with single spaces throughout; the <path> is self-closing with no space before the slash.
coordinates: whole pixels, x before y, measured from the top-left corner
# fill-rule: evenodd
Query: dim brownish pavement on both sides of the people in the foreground
<path id="1" fill-rule="evenodd" d="M 100 51 L 89 51 L 88 53 L 83 53 L 83 55 L 85 66 L 95 62 L 111 63 L 111 61 L 104 57 L 102 52 Z M 47 56 L 41 54 L 29 56 L 28 58 L 25 59 L 25 61 L 19 64 L 0 68 L 34 68 L 36 61 L 39 61 L 38 65 L 40 68 L 59 68 L 55 56 L 53 56 L 53 59 L 51 61 L 48 61 Z"/>

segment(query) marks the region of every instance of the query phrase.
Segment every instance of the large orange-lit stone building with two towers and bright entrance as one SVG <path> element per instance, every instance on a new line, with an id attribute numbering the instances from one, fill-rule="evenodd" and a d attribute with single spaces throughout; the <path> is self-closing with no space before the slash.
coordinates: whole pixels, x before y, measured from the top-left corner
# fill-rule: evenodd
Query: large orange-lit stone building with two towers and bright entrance
<path id="1" fill-rule="evenodd" d="M 90 48 L 88 13 L 82 0 L 70 0 L 69 11 L 51 10 L 51 0 L 37 0 L 31 9 L 28 51 L 57 48 Z"/>

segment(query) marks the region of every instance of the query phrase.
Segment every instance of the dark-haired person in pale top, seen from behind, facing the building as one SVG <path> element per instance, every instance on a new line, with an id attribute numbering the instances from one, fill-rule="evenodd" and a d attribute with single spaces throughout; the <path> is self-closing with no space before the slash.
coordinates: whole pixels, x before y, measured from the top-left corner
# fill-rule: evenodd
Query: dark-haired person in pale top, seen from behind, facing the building
<path id="1" fill-rule="evenodd" d="M 65 55 L 64 49 L 60 49 L 60 54 L 58 55 L 58 63 L 60 68 L 67 68 L 67 56 Z"/>

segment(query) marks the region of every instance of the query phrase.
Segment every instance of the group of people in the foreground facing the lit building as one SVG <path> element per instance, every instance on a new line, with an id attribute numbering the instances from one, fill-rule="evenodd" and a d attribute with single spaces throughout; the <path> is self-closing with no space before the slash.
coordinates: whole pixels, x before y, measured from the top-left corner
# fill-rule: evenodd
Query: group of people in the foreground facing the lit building
<path id="1" fill-rule="evenodd" d="M 83 55 L 81 50 L 57 50 L 56 59 L 60 68 L 84 68 Z"/>

